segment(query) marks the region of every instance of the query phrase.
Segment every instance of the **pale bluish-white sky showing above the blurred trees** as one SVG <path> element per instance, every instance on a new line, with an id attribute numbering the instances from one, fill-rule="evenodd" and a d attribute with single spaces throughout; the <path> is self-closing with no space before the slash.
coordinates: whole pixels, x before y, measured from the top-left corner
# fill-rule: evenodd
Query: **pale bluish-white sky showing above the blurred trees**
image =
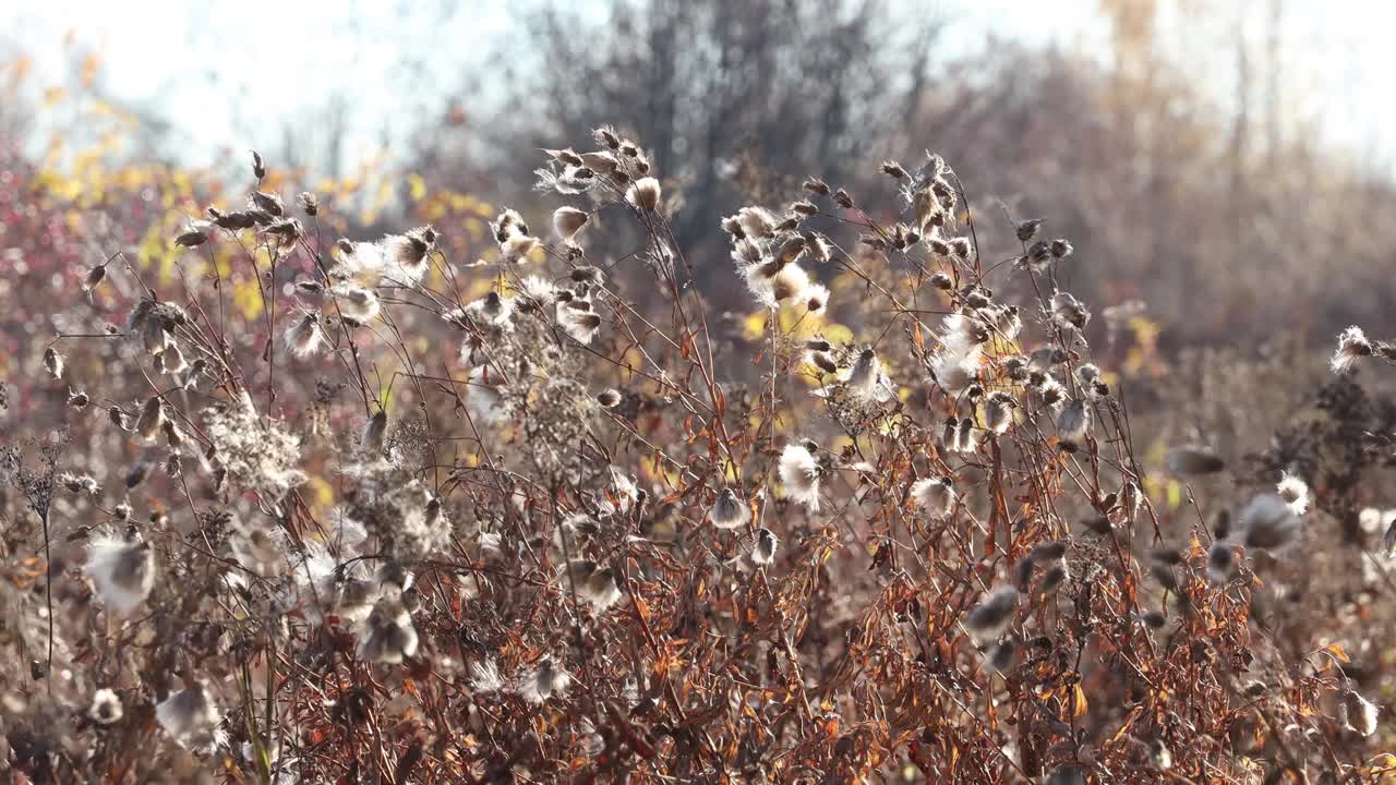
<path id="1" fill-rule="evenodd" d="M 484 53 L 519 24 L 515 10 L 536 1 L 0 3 L 0 31 L 10 31 L 0 32 L 0 54 L 24 52 L 36 60 L 40 80 L 59 80 L 71 56 L 63 45 L 71 34 L 78 46 L 101 54 L 101 84 L 114 98 L 173 124 L 179 158 L 191 165 L 214 163 L 253 144 L 279 144 L 282 120 L 349 96 L 345 158 L 355 161 L 408 127 L 395 122 L 410 110 L 398 95 L 422 95 L 412 89 L 422 82 L 454 85 L 462 74 L 484 73 Z M 1227 50 L 1234 8 L 1256 15 L 1245 35 L 1261 41 L 1261 17 L 1282 3 L 1286 105 L 1319 117 L 1323 134 L 1350 155 L 1392 169 L 1396 140 L 1388 129 L 1396 127 L 1396 102 L 1388 80 L 1396 53 L 1388 38 L 1396 29 L 1396 3 L 1160 0 L 1164 7 L 1177 3 L 1188 11 L 1163 18 L 1166 41 L 1203 53 L 1213 46 L 1213 56 L 1198 59 L 1196 77 L 1216 82 L 1222 95 L 1234 73 Z M 1097 8 L 1097 0 L 889 0 L 888 15 L 945 14 L 953 20 L 955 47 L 984 46 L 998 36 L 1094 52 L 1106 49 L 1108 35 Z M 1217 41 L 1195 39 L 1199 27 Z M 409 70 L 410 63 L 426 73 Z"/>

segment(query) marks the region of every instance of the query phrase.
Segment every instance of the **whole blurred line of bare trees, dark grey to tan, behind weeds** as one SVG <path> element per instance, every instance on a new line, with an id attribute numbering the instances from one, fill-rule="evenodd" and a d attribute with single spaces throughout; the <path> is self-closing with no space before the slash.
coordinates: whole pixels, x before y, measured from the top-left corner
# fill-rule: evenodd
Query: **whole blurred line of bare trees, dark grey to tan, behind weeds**
<path id="1" fill-rule="evenodd" d="M 997 41 L 955 54 L 955 21 L 919 4 L 556 3 L 501 42 L 501 78 L 454 103 L 480 120 L 430 124 L 416 154 L 434 179 L 525 205 L 537 148 L 621 123 L 681 189 L 680 242 L 729 275 L 720 215 L 783 207 L 805 175 L 860 189 L 878 161 L 930 149 L 965 173 L 987 256 L 1016 253 L 1000 200 L 1050 215 L 1078 240 L 1065 284 L 1097 307 L 1146 299 L 1164 349 L 1277 331 L 1326 342 L 1379 318 L 1396 295 L 1382 221 L 1396 190 L 1328 151 L 1304 115 L 1283 0 L 1099 11 L 1107 52 Z"/>

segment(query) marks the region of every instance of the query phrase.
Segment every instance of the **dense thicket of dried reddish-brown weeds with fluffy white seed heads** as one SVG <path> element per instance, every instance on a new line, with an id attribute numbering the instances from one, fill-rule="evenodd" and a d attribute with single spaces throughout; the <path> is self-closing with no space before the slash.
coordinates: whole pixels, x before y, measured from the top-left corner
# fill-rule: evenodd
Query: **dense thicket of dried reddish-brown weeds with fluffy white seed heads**
<path id="1" fill-rule="evenodd" d="M 727 261 L 638 142 L 579 149 L 479 260 L 447 215 L 339 239 L 257 156 L 165 263 L 50 270 L 54 332 L 7 337 L 14 781 L 1396 771 L 1396 406 L 1351 369 L 1396 348 L 1349 330 L 1293 397 L 1201 358 L 1145 391 L 1188 427 L 1146 455 L 1094 348 L 1139 303 L 1058 285 L 1089 237 L 940 156 L 881 165 L 895 208 L 808 179 L 711 217 Z"/>

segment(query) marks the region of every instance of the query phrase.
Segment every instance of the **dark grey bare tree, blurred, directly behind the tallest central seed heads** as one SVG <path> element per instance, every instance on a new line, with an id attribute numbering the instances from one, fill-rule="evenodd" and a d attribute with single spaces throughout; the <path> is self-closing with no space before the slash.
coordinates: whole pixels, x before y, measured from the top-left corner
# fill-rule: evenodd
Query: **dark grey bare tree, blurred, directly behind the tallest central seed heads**
<path id="1" fill-rule="evenodd" d="M 496 126 L 493 141 L 526 154 L 625 123 L 683 186 L 674 229 L 694 240 L 712 226 L 692 221 L 736 207 L 764 172 L 832 182 L 850 175 L 850 152 L 886 152 L 877 145 L 914 110 L 942 29 L 926 8 L 902 31 L 886 18 L 878 0 L 634 0 L 603 21 L 551 4 L 525 25 L 526 46 L 510 42 L 507 101 L 521 122 Z"/>

